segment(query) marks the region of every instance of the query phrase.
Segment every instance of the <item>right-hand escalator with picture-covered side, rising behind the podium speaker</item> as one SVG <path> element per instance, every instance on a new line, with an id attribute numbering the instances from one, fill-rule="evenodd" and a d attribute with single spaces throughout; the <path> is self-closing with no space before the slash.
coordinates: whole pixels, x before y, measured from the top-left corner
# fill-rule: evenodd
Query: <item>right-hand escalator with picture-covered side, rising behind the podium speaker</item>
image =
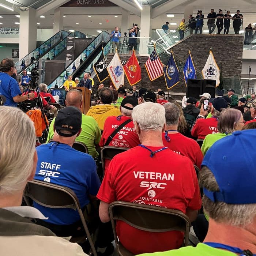
<path id="1" fill-rule="evenodd" d="M 105 47 L 110 42 L 110 34 L 103 31 L 88 45 L 78 57 L 71 62 L 56 78 L 49 83 L 48 88 L 60 88 L 69 75 L 83 78 L 85 72 L 93 72 L 93 60 L 101 53 L 102 47 Z M 110 43 L 108 44 L 108 46 Z M 108 49 L 109 51 L 109 49 Z M 88 63 L 90 68 L 88 69 Z"/>

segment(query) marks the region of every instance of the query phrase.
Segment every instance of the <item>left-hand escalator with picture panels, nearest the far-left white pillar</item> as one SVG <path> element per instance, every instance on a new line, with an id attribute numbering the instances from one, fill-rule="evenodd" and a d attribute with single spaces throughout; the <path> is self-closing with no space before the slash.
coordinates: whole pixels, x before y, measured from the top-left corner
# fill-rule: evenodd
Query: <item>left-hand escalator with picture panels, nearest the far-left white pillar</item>
<path id="1" fill-rule="evenodd" d="M 77 37 L 77 38 L 85 38 L 86 35 L 79 32 L 79 31 L 74 31 L 72 33 L 69 33 L 67 31 L 64 31 L 66 33 L 64 33 L 65 37 L 60 39 L 59 41 L 56 39 L 56 43 L 52 45 L 52 43 L 50 42 L 50 39 L 48 39 L 46 42 L 46 44 L 48 44 L 48 48 L 46 44 L 42 44 L 41 46 L 39 46 L 37 49 L 35 49 L 33 52 L 31 52 L 30 54 L 28 54 L 27 56 L 33 56 L 37 55 L 37 59 L 33 60 L 32 62 L 30 62 L 28 65 L 26 65 L 25 68 L 22 68 L 18 71 L 18 74 L 22 74 L 23 70 L 26 70 L 28 74 L 30 74 L 30 71 L 32 70 L 32 68 L 34 68 L 35 66 L 38 67 L 38 63 L 39 60 L 54 60 L 55 58 L 57 58 L 66 48 L 67 48 L 67 38 L 69 37 Z M 54 36 L 52 37 L 54 38 Z M 38 52 L 39 50 L 39 52 Z M 28 57 L 29 59 L 29 57 Z M 30 59 L 31 60 L 31 59 Z M 24 62 L 23 60 L 20 60 Z M 16 65 L 15 65 L 16 66 Z M 20 68 L 22 66 L 20 65 Z"/>

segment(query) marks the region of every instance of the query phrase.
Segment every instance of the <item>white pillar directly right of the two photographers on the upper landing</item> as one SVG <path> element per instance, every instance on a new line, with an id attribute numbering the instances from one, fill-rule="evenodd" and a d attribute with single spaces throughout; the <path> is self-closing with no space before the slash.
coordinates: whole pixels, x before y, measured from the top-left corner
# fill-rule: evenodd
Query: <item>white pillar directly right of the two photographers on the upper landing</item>
<path id="1" fill-rule="evenodd" d="M 140 54 L 148 54 L 148 40 L 152 32 L 152 7 L 151 5 L 143 5 L 140 15 Z M 138 24 L 139 25 L 139 24 Z M 145 39 L 143 39 L 145 37 Z"/>

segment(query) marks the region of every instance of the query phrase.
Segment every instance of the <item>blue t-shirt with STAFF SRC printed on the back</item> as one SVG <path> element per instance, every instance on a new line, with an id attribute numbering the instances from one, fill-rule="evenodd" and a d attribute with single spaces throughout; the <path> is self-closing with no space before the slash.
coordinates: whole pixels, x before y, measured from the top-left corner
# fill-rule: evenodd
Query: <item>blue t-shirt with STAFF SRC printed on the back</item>
<path id="1" fill-rule="evenodd" d="M 97 195 L 101 185 L 93 158 L 67 144 L 50 142 L 36 148 L 38 155 L 35 179 L 72 189 L 83 208 L 90 203 L 89 195 Z M 45 220 L 56 225 L 79 221 L 78 211 L 69 208 L 47 208 L 34 202 Z"/>

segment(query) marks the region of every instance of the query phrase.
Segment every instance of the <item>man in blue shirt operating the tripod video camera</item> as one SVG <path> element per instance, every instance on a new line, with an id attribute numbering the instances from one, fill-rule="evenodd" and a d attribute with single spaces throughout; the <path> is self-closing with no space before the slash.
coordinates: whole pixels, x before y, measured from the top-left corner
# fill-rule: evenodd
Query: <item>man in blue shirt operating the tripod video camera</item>
<path id="1" fill-rule="evenodd" d="M 4 106 L 16 107 L 17 102 L 26 101 L 34 98 L 34 93 L 21 95 L 18 82 L 11 76 L 14 74 L 14 61 L 11 59 L 3 59 L 0 63 L 0 96 L 4 102 Z"/>

